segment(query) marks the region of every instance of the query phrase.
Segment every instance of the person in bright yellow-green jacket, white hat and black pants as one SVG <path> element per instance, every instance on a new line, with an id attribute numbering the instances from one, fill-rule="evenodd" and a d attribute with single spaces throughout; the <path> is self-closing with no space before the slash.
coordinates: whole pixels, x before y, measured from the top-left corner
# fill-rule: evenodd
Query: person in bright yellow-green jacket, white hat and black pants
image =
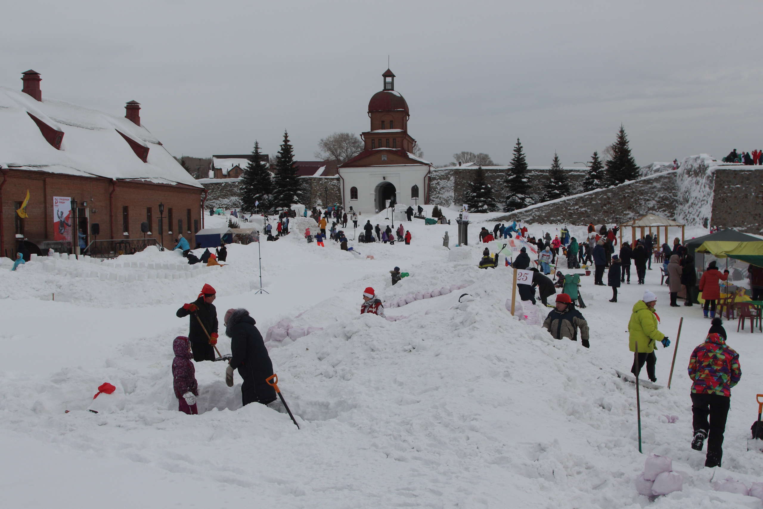
<path id="1" fill-rule="evenodd" d="M 630 372 L 639 376 L 639 372 L 646 362 L 646 374 L 649 375 L 649 380 L 652 382 L 657 382 L 655 376 L 656 343 L 661 342 L 663 348 L 670 346 L 668 337 L 658 330 L 659 317 L 655 312 L 655 304 L 657 304 L 657 296 L 646 290 L 642 300 L 633 304 L 633 314 L 630 315 L 628 322 L 630 351 L 639 353 L 638 356 L 634 356 Z"/>

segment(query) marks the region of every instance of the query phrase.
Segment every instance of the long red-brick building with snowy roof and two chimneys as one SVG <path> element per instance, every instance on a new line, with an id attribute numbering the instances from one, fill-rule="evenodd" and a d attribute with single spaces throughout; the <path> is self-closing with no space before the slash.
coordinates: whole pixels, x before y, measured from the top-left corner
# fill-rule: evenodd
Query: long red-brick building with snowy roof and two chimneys
<path id="1" fill-rule="evenodd" d="M 139 103 L 128 102 L 121 118 L 43 99 L 32 70 L 22 79 L 21 92 L 0 87 L 2 256 L 22 242 L 33 253 L 70 250 L 78 229 L 88 245 L 144 233 L 167 245 L 182 233 L 194 245 L 204 188 L 140 124 Z"/>

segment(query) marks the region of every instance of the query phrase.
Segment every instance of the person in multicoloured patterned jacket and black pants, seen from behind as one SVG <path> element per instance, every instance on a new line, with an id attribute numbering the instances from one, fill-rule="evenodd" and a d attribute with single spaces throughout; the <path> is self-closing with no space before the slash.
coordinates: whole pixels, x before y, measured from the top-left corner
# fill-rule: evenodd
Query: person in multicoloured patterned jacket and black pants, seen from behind
<path id="1" fill-rule="evenodd" d="M 691 353 L 688 370 L 689 377 L 694 380 L 691 385 L 691 413 L 694 415 L 691 448 L 701 451 L 704 440 L 709 437 L 705 466 L 720 466 L 731 388 L 742 378 L 739 353 L 726 346 L 719 333 L 710 333 Z"/>

